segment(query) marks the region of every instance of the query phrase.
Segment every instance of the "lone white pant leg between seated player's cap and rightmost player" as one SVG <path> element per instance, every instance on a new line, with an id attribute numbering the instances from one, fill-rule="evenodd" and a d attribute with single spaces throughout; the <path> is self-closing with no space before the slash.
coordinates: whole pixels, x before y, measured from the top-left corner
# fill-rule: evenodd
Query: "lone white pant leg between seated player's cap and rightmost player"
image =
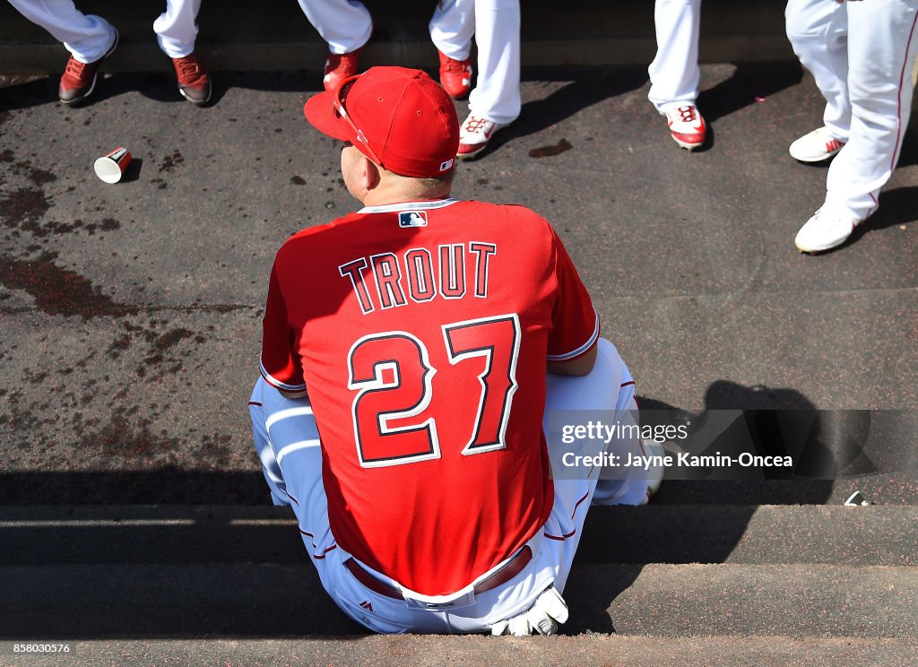
<path id="1" fill-rule="evenodd" d="M 663 114 L 698 98 L 701 0 L 656 0 L 654 25 L 656 56 L 648 69 L 647 98 Z"/>

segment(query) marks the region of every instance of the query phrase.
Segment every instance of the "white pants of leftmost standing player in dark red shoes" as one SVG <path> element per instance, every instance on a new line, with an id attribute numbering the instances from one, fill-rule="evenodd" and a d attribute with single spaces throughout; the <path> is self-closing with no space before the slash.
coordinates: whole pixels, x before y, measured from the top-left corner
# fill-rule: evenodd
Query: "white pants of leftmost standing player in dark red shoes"
<path id="1" fill-rule="evenodd" d="M 48 30 L 80 62 L 99 60 L 115 41 L 115 28 L 105 18 L 85 15 L 73 0 L 9 2 L 22 16 Z M 201 0 L 166 0 L 165 12 L 153 21 L 160 48 L 170 58 L 182 58 L 195 50 L 200 5 Z"/>

